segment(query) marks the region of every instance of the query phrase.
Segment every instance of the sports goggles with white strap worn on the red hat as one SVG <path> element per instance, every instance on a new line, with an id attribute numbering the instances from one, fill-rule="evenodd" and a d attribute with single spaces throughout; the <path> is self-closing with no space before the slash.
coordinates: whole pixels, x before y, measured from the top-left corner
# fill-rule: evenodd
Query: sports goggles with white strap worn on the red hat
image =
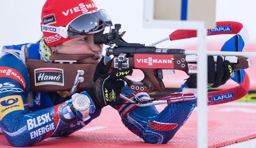
<path id="1" fill-rule="evenodd" d="M 41 24 L 41 31 L 57 33 L 64 38 L 74 38 L 85 34 L 93 34 L 112 26 L 112 21 L 105 10 L 100 9 L 90 14 L 81 15 L 73 19 L 66 27 L 55 27 Z"/>

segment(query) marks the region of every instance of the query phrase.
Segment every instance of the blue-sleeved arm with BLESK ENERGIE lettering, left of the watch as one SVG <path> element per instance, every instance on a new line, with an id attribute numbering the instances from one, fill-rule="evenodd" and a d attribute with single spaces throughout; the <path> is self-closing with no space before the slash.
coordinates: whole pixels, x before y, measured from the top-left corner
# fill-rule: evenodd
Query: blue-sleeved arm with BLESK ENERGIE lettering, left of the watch
<path id="1" fill-rule="evenodd" d="M 0 126 L 12 146 L 31 146 L 57 133 L 82 115 L 72 101 L 30 112 L 30 80 L 25 65 L 11 54 L 0 58 Z"/>

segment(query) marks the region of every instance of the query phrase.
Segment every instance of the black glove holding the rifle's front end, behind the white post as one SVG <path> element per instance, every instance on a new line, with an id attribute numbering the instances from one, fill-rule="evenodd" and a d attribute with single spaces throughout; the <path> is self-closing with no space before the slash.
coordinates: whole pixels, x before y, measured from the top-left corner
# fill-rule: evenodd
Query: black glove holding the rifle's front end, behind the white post
<path id="1" fill-rule="evenodd" d="M 221 56 L 217 56 L 216 70 L 212 55 L 208 56 L 208 84 L 207 87 L 216 88 L 225 84 L 232 76 L 232 67 L 228 60 L 223 62 Z M 186 85 L 189 88 L 197 87 L 197 76 L 190 76 Z"/>

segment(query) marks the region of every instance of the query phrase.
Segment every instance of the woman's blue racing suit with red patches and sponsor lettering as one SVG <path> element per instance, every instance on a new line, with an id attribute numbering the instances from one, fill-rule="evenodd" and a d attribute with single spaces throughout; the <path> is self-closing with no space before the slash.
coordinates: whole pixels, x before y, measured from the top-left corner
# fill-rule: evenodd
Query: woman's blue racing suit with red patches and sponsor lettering
<path id="1" fill-rule="evenodd" d="M 39 44 L 28 46 L 29 58 L 40 59 Z M 18 49 L 23 45 L 4 46 Z M 186 87 L 182 85 L 179 91 Z M 91 118 L 83 121 L 82 114 L 72 106 L 71 97 L 61 97 L 57 92 L 32 92 L 33 106 L 29 108 L 27 97 L 30 77 L 26 66 L 12 54 L 0 57 L 0 127 L 12 146 L 25 147 L 36 144 L 50 136 L 66 136 L 86 126 L 100 115 L 86 90 L 78 91 L 90 99 Z M 134 92 L 126 85 L 122 94 L 133 99 L 150 99 L 148 94 Z M 120 99 L 117 103 L 126 103 Z M 123 124 L 147 143 L 165 144 L 186 122 L 196 106 L 196 100 L 169 103 L 160 113 L 155 106 L 137 107 L 134 104 L 112 105 Z M 64 119 L 65 118 L 65 119 Z"/>

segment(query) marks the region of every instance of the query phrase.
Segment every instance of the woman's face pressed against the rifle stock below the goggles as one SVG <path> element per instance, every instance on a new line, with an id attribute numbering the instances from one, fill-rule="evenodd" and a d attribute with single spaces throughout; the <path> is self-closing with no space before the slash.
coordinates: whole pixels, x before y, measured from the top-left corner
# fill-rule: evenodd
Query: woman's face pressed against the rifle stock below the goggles
<path id="1" fill-rule="evenodd" d="M 83 63 L 98 64 L 101 59 L 103 45 L 96 45 L 93 41 L 94 34 L 87 34 L 72 38 L 60 45 L 51 47 L 58 54 L 95 54 L 83 60 Z"/>

